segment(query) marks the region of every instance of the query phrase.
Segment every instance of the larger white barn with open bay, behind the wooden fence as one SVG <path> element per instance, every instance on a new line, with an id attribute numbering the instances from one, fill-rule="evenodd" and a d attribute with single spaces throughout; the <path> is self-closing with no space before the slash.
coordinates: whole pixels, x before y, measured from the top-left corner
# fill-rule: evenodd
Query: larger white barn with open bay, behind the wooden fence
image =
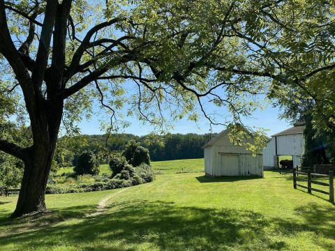
<path id="1" fill-rule="evenodd" d="M 266 169 L 278 167 L 278 156 L 281 155 L 292 156 L 294 167 L 300 165 L 305 144 L 304 128 L 305 126 L 293 126 L 271 136 L 263 149 L 263 165 Z"/>

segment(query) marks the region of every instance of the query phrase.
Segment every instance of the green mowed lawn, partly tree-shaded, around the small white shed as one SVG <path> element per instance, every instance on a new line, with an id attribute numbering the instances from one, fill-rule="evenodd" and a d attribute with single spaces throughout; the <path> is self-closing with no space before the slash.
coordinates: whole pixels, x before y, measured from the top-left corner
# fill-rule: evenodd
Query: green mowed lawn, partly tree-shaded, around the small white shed
<path id="1" fill-rule="evenodd" d="M 293 190 L 292 174 L 207 178 L 203 160 L 153 166 L 153 183 L 47 195 L 40 218 L 8 220 L 17 197 L 0 197 L 0 250 L 335 250 L 335 206 Z M 106 197 L 106 211 L 89 215 Z"/>

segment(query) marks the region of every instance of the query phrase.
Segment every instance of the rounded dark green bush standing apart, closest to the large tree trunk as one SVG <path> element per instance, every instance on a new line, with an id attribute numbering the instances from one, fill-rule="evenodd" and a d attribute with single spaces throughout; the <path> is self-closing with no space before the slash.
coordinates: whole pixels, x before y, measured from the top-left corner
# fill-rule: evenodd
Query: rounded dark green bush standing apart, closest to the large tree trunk
<path id="1" fill-rule="evenodd" d="M 77 165 L 73 169 L 76 175 L 92 174 L 96 175 L 99 173 L 99 163 L 96 160 L 96 156 L 92 152 L 82 153 L 78 160 Z"/>

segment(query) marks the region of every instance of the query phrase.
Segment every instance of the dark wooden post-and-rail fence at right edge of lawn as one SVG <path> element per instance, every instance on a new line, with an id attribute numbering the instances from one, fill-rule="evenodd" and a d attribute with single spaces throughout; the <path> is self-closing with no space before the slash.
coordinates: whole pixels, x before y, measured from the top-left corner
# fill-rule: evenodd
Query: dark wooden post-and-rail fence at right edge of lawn
<path id="1" fill-rule="evenodd" d="M 299 176 L 297 176 L 298 174 Z M 328 178 L 329 183 L 325 183 L 322 181 L 315 181 L 313 180 L 313 178 Z M 307 181 L 307 185 L 298 184 L 297 181 Z M 329 188 L 329 192 L 316 189 L 316 188 L 312 188 L 312 184 L 326 186 Z M 293 169 L 293 188 L 297 189 L 297 187 L 307 189 L 308 193 L 310 194 L 312 193 L 312 191 L 314 191 L 314 192 L 321 192 L 325 195 L 329 195 L 329 201 L 334 204 L 334 172 L 332 171 L 329 172 L 329 175 L 313 174 L 312 172 L 297 172 L 297 169 L 294 168 Z"/>

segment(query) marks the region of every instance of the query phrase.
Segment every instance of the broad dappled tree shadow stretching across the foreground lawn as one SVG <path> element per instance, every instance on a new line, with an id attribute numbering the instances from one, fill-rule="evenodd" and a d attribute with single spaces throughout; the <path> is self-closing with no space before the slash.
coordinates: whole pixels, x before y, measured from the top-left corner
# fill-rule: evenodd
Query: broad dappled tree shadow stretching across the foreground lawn
<path id="1" fill-rule="evenodd" d="M 135 250 L 137 245 L 145 243 L 158 250 L 285 248 L 285 243 L 267 238 L 268 226 L 269 222 L 260 213 L 252 211 L 180 207 L 164 201 L 126 201 L 113 204 L 109 213 L 84 218 L 73 225 L 60 224 L 0 237 L 0 245 L 20 243 L 22 250 L 64 243 L 83 250 Z"/>

